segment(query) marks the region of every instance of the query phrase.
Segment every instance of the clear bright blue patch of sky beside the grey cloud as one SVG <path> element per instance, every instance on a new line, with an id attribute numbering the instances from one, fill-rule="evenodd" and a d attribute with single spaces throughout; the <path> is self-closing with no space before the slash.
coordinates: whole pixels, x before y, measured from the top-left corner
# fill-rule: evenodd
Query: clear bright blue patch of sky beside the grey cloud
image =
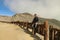
<path id="1" fill-rule="evenodd" d="M 4 0 L 0 0 L 0 15 L 12 16 L 14 12 L 12 12 L 8 7 L 4 5 Z"/>

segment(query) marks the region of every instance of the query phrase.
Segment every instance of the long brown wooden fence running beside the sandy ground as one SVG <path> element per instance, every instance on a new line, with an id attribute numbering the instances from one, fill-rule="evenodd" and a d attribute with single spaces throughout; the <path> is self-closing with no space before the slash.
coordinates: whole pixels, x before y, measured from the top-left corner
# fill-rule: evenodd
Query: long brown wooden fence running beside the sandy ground
<path id="1" fill-rule="evenodd" d="M 32 23 L 28 23 L 28 22 L 12 22 L 12 23 L 17 24 L 19 26 L 26 27 L 26 30 L 28 30 L 29 28 L 32 29 L 31 26 Z M 44 40 L 55 40 L 56 34 L 60 35 L 60 30 L 54 29 L 53 26 L 50 26 L 48 24 L 48 21 L 45 21 L 44 24 L 38 24 L 36 32 L 43 35 Z"/>

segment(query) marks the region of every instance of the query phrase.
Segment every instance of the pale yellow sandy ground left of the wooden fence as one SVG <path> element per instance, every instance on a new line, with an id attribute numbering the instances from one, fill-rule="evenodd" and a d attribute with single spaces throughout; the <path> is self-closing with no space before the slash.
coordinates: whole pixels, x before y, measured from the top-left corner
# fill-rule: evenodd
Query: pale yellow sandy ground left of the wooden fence
<path id="1" fill-rule="evenodd" d="M 33 37 L 30 32 L 26 32 L 23 28 L 0 22 L 0 40 L 40 40 L 43 37 Z"/>

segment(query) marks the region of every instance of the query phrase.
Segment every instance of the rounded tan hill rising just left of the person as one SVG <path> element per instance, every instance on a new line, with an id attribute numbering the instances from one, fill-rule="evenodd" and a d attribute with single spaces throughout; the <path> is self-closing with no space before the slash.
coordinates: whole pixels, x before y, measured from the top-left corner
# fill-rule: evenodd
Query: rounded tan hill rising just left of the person
<path id="1" fill-rule="evenodd" d="M 15 14 L 12 16 L 13 21 L 20 21 L 20 22 L 31 22 L 33 19 L 33 15 L 29 13 L 20 13 Z"/>

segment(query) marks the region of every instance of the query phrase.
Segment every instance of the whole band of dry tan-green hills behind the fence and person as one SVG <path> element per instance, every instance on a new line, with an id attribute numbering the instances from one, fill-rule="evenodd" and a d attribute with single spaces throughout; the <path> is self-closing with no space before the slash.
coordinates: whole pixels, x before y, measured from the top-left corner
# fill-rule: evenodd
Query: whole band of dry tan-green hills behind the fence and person
<path id="1" fill-rule="evenodd" d="M 30 13 L 17 13 L 13 16 L 0 16 L 0 21 L 3 22 L 32 22 L 34 16 Z M 56 19 L 47 19 L 47 18 L 41 18 L 39 17 L 39 23 L 44 23 L 44 21 L 47 20 L 49 22 L 49 25 L 54 25 L 56 27 L 60 27 L 60 21 Z M 56 28 L 55 27 L 55 28 Z"/>

